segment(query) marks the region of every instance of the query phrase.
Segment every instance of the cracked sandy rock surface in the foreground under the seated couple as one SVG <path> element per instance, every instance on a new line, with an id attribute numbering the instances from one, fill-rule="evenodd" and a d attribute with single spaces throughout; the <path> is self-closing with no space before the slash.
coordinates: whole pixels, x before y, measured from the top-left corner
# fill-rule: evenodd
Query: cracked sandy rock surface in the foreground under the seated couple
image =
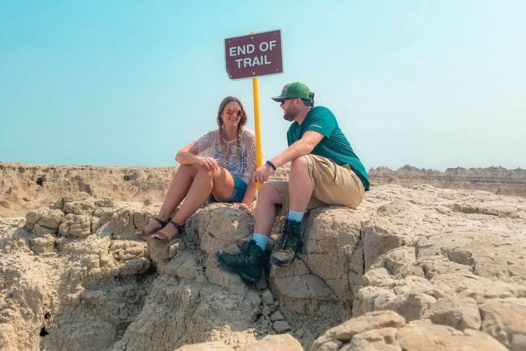
<path id="1" fill-rule="evenodd" d="M 205 206 L 156 256 L 133 232 L 157 209 L 77 192 L 0 219 L 0 348 L 526 349 L 522 198 L 373 187 L 312 210 L 294 263 L 251 285 L 214 259 L 249 212 Z"/>

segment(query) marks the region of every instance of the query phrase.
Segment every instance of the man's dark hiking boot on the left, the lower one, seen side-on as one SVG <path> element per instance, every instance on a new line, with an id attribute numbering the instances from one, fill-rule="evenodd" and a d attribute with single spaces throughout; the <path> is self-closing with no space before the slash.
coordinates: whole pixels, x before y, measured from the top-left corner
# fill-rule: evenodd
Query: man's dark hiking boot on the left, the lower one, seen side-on
<path id="1" fill-rule="evenodd" d="M 226 252 L 216 254 L 219 265 L 230 272 L 237 273 L 241 278 L 256 283 L 261 277 L 266 262 L 265 251 L 252 239 L 247 246 L 241 247 L 241 252 L 232 255 Z"/>

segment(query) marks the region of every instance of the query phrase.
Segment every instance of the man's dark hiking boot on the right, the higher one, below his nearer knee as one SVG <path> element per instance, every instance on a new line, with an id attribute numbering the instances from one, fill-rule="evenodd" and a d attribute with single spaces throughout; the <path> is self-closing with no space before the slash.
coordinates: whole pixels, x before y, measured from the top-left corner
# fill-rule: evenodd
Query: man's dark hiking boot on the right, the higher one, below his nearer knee
<path id="1" fill-rule="evenodd" d="M 274 245 L 270 263 L 276 266 L 287 266 L 294 259 L 294 255 L 301 251 L 301 222 L 285 219 L 283 233 Z"/>

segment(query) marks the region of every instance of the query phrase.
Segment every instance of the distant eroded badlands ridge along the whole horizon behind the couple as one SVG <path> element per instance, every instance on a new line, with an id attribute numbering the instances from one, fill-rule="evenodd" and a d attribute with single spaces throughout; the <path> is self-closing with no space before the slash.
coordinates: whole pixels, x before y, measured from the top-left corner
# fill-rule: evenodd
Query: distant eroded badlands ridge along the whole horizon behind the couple
<path id="1" fill-rule="evenodd" d="M 24 216 L 65 194 L 84 192 L 145 205 L 163 201 L 177 167 L 38 166 L 0 162 L 0 217 Z M 446 172 L 406 165 L 397 171 L 371 168 L 372 185 L 429 184 L 440 188 L 487 190 L 526 197 L 526 170 L 502 167 L 448 168 Z M 280 167 L 272 179 L 288 178 Z"/>

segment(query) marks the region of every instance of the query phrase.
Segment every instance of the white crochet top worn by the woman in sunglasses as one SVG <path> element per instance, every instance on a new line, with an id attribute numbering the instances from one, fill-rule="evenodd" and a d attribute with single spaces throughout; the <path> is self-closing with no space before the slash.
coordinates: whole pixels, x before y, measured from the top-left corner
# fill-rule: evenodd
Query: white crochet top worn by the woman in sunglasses
<path id="1" fill-rule="evenodd" d="M 256 170 L 256 136 L 247 129 L 243 129 L 239 137 L 241 148 L 239 162 L 237 159 L 238 139 L 226 141 L 221 137 L 219 129 L 201 135 L 196 139 L 194 145 L 197 146 L 199 156 L 214 157 L 219 166 L 228 169 L 232 175 L 238 176 L 247 184 L 250 176 Z M 227 158 L 223 150 L 226 150 Z"/>

